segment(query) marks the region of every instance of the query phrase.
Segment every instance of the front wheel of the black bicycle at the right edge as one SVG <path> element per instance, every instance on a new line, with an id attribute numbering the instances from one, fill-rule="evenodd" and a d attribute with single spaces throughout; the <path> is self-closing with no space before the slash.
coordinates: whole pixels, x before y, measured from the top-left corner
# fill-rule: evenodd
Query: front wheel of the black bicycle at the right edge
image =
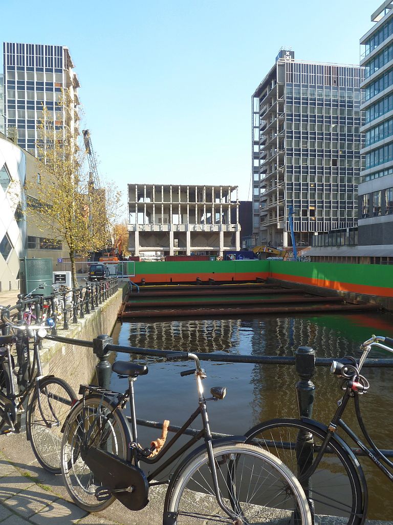
<path id="1" fill-rule="evenodd" d="M 299 419 L 271 419 L 256 425 L 245 435 L 247 442 L 252 440 L 255 444 L 257 440 L 258 446 L 276 455 L 299 478 L 303 467 L 298 466 L 297 458 L 304 461 L 303 465 L 310 466 L 326 431 Z M 357 525 L 363 515 L 363 491 L 358 471 L 334 437 L 329 446 L 330 452 L 322 457 L 310 478 L 311 484 L 302 480 L 301 484 L 316 516 L 337 516 L 343 519 L 342 523 L 347 519 L 348 525 Z"/>

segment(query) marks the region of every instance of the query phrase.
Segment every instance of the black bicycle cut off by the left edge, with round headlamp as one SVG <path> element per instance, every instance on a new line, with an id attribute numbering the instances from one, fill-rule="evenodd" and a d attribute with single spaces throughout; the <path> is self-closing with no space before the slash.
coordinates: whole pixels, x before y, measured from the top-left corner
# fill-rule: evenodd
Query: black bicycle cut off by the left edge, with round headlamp
<path id="1" fill-rule="evenodd" d="M 42 375 L 39 344 L 47 335 L 46 328 L 13 323 L 7 318 L 9 307 L 0 306 L 0 310 L 2 321 L 18 332 L 0 336 L 0 430 L 7 425 L 3 434 L 19 433 L 26 416 L 26 438 L 40 465 L 60 474 L 60 430 L 77 396 L 67 382 Z M 29 338 L 33 340 L 32 362 Z M 11 353 L 14 344 L 18 371 Z"/>

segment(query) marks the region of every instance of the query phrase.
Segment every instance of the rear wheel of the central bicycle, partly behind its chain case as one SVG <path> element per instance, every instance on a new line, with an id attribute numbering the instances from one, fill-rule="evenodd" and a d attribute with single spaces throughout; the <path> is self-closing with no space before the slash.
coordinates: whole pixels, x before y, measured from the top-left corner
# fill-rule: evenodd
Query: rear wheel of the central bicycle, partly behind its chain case
<path id="1" fill-rule="evenodd" d="M 105 501 L 97 500 L 96 488 L 102 486 L 101 481 L 94 479 L 93 472 L 81 458 L 80 450 L 83 448 L 83 439 L 92 423 L 99 422 L 98 433 L 94 434 L 95 447 L 110 451 L 121 459 L 127 459 L 128 443 L 131 442 L 128 424 L 121 411 L 112 412 L 109 401 L 100 396 L 86 396 L 83 403 L 79 402 L 67 418 L 64 425 L 61 443 L 61 473 L 65 488 L 72 500 L 88 512 L 99 512 L 106 509 L 115 501 L 111 496 Z M 84 415 L 83 415 L 83 410 Z M 100 415 L 99 415 L 100 410 Z M 112 412 L 110 419 L 107 414 Z M 97 418 L 98 416 L 98 418 Z M 100 427 L 101 425 L 101 427 Z M 90 432 L 93 435 L 93 431 Z M 102 437 L 104 436 L 104 438 Z"/>

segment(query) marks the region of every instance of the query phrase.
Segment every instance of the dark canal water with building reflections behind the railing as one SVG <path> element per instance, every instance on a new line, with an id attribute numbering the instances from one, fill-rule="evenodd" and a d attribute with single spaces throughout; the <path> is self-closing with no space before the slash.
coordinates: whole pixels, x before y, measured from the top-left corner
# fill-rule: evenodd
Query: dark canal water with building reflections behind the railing
<path id="1" fill-rule="evenodd" d="M 190 352 L 223 352 L 232 355 L 293 355 L 300 345 L 309 345 L 316 355 L 340 358 L 359 357 L 359 344 L 372 334 L 393 337 L 393 315 L 380 312 L 348 314 L 303 314 L 293 317 L 255 316 L 252 318 L 162 320 L 117 323 L 115 344 L 141 348 Z M 374 350 L 370 357 L 391 357 Z M 128 360 L 118 353 L 118 360 Z M 134 357 L 132 357 L 134 359 Z M 157 358 L 137 359 L 147 364 L 149 373 L 135 384 L 137 417 L 182 425 L 197 406 L 193 375 L 180 372 L 192 368 L 183 362 L 168 363 Z M 274 417 L 297 417 L 295 384 L 298 376 L 293 366 L 203 362 L 207 374 L 205 392 L 212 386 L 226 386 L 223 401 L 209 403 L 213 432 L 244 434 L 250 427 Z M 393 449 L 393 369 L 364 369 L 370 382 L 369 393 L 361 397 L 366 426 L 380 448 Z M 313 417 L 329 424 L 337 400 L 342 395 L 340 380 L 329 368 L 318 367 L 313 377 L 316 385 Z M 127 381 L 113 374 L 111 388 L 124 391 Z M 357 434 L 353 406 L 344 421 Z M 200 428 L 199 421 L 194 428 Z M 144 446 L 159 436 L 159 430 L 142 429 L 139 442 Z M 182 441 L 182 443 L 184 440 Z M 391 520 L 393 502 L 391 482 L 365 459 L 361 459 L 368 481 L 369 519 Z"/>

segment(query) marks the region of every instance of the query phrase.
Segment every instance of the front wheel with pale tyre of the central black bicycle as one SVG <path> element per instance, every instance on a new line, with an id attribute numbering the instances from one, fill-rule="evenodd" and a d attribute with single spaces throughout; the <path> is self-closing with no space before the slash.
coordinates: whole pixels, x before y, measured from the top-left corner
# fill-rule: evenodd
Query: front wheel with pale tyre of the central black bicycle
<path id="1" fill-rule="evenodd" d="M 213 444 L 213 453 L 221 497 L 235 512 L 236 522 L 280 522 L 297 509 L 299 525 L 311 524 L 308 501 L 296 476 L 277 457 L 244 443 Z M 163 518 L 176 525 L 234 523 L 217 503 L 207 451 L 179 471 Z"/>

